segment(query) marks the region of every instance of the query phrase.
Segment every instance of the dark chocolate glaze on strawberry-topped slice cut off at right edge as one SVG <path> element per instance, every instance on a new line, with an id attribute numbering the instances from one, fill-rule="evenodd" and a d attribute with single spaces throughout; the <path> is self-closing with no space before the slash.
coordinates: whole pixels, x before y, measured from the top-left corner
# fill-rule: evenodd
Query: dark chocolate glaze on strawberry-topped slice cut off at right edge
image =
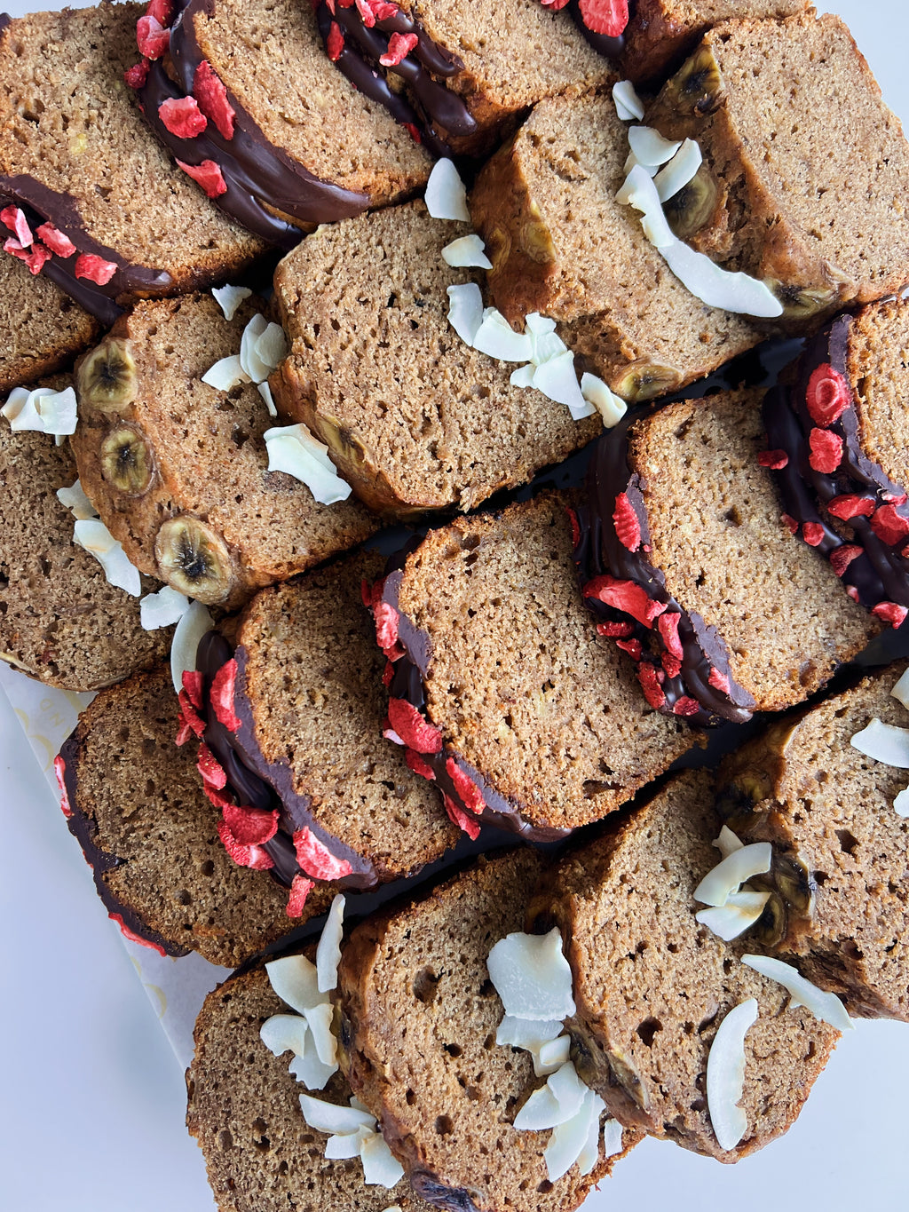
<path id="1" fill-rule="evenodd" d="M 817 544 L 818 551 L 829 558 L 833 551 L 852 543 L 864 549 L 848 564 L 841 578 L 856 589 L 863 606 L 873 610 L 886 601 L 909 607 L 909 561 L 899 554 L 909 543 L 909 537 L 891 547 L 875 534 L 870 518 L 831 522 L 831 515 L 825 509 L 837 496 L 873 496 L 875 504 L 884 504 L 885 496 L 899 499 L 907 492 L 903 485 L 887 478 L 884 468 L 864 456 L 854 402 L 828 427 L 844 440 L 844 458 L 837 470 L 828 475 L 816 471 L 808 462 L 808 434 L 814 427 L 807 407 L 808 381 L 818 366 L 829 364 L 850 382 L 846 359 L 852 322 L 852 316 L 846 314 L 822 328 L 799 359 L 794 383 L 774 387 L 765 396 L 764 424 L 768 446 L 785 451 L 789 457 L 785 467 L 773 470 L 773 476 L 785 511 L 799 526 L 805 522 L 821 526 L 823 538 Z M 909 504 L 897 505 L 896 509 L 901 516 L 909 519 Z M 844 531 L 851 537 L 844 538 Z"/>

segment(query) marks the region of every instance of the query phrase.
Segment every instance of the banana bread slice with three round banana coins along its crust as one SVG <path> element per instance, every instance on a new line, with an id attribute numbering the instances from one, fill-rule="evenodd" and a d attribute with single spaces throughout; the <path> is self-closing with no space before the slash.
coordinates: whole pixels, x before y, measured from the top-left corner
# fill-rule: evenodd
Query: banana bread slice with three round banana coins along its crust
<path id="1" fill-rule="evenodd" d="M 85 491 L 143 572 L 234 608 L 368 538 L 361 504 L 319 504 L 263 440 L 255 383 L 202 382 L 239 354 L 256 309 L 225 320 L 210 295 L 142 302 L 79 364 L 73 448 Z"/>

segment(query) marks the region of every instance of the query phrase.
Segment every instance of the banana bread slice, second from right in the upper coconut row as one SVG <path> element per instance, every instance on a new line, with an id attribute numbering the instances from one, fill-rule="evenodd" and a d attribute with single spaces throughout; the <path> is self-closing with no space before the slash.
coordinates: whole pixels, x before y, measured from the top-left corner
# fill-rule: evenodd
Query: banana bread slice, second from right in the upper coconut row
<path id="1" fill-rule="evenodd" d="M 496 305 L 519 326 L 530 311 L 558 320 L 568 348 L 636 401 L 710 373 L 764 335 L 691 295 L 636 212 L 616 201 L 627 156 L 611 96 L 544 101 L 484 166 L 469 201 Z"/>

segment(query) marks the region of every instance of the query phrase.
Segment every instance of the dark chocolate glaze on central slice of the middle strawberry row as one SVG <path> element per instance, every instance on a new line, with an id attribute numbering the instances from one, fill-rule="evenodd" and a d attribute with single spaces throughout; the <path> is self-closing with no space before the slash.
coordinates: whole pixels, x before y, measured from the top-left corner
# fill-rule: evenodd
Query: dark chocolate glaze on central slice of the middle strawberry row
<path id="1" fill-rule="evenodd" d="M 419 542 L 417 539 L 417 542 Z M 399 553 L 389 561 L 390 572 L 387 573 L 382 584 L 382 601 L 387 602 L 398 614 L 398 640 L 404 648 L 404 656 L 394 663 L 394 675 L 389 686 L 391 698 L 406 699 L 421 714 L 425 714 L 425 678 L 429 673 L 429 664 L 433 657 L 433 641 L 427 631 L 415 627 L 413 622 L 401 612 L 399 595 L 401 582 L 404 581 L 402 564 L 406 551 Z M 556 825 L 533 824 L 524 816 L 525 806 L 515 800 L 507 799 L 499 794 L 470 762 L 465 761 L 458 753 L 448 745 L 442 744 L 438 754 L 421 754 L 421 760 L 430 767 L 435 774 L 435 785 L 447 795 L 454 804 L 471 819 L 482 821 L 485 824 L 496 825 L 499 829 L 508 829 L 510 833 L 520 834 L 528 841 L 558 841 L 566 837 L 571 830 Z M 486 807 L 479 817 L 467 806 L 457 789 L 454 779 L 451 777 L 447 764 L 453 761 L 458 770 L 465 774 L 482 795 Z"/>

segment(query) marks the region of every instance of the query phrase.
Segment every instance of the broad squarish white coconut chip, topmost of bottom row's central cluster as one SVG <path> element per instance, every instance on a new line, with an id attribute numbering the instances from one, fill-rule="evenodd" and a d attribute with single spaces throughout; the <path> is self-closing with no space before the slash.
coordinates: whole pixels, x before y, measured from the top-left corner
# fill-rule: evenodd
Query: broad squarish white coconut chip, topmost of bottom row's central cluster
<path id="1" fill-rule="evenodd" d="M 574 1013 L 561 934 L 508 934 L 490 951 L 490 979 L 513 1018 L 565 1019 Z"/>

